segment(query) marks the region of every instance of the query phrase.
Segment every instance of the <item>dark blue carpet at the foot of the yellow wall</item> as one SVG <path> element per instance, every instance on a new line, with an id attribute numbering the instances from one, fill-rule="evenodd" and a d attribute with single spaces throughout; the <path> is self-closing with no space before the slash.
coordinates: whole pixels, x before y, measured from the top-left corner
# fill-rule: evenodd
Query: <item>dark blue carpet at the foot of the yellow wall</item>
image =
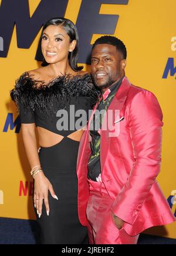
<path id="1" fill-rule="evenodd" d="M 0 218 L 0 244 L 39 244 L 36 221 Z M 176 239 L 141 234 L 138 244 L 176 244 Z"/>

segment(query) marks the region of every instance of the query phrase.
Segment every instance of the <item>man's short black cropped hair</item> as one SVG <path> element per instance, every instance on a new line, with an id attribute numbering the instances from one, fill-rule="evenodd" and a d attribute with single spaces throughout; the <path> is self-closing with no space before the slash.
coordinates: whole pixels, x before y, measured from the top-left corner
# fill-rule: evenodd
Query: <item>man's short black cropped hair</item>
<path id="1" fill-rule="evenodd" d="M 97 44 L 111 44 L 114 45 L 117 48 L 117 51 L 121 52 L 122 58 L 126 59 L 127 58 L 127 49 L 126 46 L 124 45 L 123 41 L 121 41 L 117 37 L 112 37 L 111 35 L 103 35 L 103 37 L 98 38 L 93 46 L 92 46 L 92 51 L 93 48 Z"/>

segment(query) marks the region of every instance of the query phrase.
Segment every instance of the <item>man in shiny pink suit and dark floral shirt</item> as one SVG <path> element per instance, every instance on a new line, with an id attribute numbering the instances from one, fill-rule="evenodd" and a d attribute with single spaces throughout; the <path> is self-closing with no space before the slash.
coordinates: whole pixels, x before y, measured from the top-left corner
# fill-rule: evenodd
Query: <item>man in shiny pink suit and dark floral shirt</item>
<path id="1" fill-rule="evenodd" d="M 116 37 L 92 48 L 101 93 L 77 159 L 79 219 L 92 244 L 137 244 L 144 229 L 175 221 L 156 180 L 163 114 L 154 94 L 125 76 L 126 56 Z"/>

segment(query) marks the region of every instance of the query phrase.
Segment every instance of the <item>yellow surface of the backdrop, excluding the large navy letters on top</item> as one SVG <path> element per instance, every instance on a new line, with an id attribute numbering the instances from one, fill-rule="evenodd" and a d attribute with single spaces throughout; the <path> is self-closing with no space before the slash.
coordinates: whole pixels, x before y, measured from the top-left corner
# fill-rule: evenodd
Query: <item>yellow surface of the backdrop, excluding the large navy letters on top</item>
<path id="1" fill-rule="evenodd" d="M 29 0 L 31 16 L 39 2 Z M 65 17 L 76 23 L 81 4 L 82 0 L 69 0 Z M 163 159 L 158 181 L 165 197 L 171 199 L 173 213 L 176 204 L 176 72 L 174 73 L 172 67 L 172 76 L 169 72 L 167 78 L 163 78 L 163 74 L 168 58 L 174 61 L 176 54 L 175 9 L 175 0 L 129 0 L 127 5 L 102 4 L 100 8 L 100 14 L 120 15 L 114 35 L 123 40 L 127 47 L 126 76 L 136 86 L 153 91 L 163 109 Z M 35 219 L 31 196 L 32 179 L 29 175 L 30 168 L 23 149 L 21 132 L 15 133 L 15 129 L 11 130 L 10 127 L 5 132 L 4 126 L 9 113 L 13 113 L 13 120 L 18 116 L 9 97 L 9 90 L 12 89 L 15 79 L 23 71 L 38 68 L 40 65 L 34 60 L 40 32 L 31 48 L 21 49 L 16 45 L 14 28 L 8 56 L 0 59 L 0 216 L 8 218 Z M 91 43 L 99 36 L 94 34 Z M 89 69 L 89 65 L 84 64 L 84 70 Z M 152 228 L 148 233 L 176 238 L 176 223 Z"/>

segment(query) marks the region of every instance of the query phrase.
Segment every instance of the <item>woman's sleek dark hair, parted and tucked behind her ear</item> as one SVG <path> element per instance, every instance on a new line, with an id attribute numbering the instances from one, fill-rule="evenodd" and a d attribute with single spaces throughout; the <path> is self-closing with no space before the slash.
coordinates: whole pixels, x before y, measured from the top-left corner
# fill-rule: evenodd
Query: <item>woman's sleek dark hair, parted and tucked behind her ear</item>
<path id="1" fill-rule="evenodd" d="M 73 40 L 76 40 L 75 49 L 72 52 L 69 52 L 69 56 L 68 56 L 69 64 L 70 64 L 70 67 L 75 71 L 82 70 L 83 66 L 77 65 L 78 52 L 79 52 L 79 37 L 78 37 L 77 28 L 76 28 L 75 24 L 73 24 L 73 22 L 70 21 L 70 19 L 52 18 L 52 19 L 49 19 L 49 21 L 47 21 L 43 25 L 42 34 L 43 34 L 43 31 L 45 30 L 45 28 L 47 28 L 49 25 L 56 25 L 56 26 L 61 25 L 65 29 L 67 35 L 69 35 L 70 42 L 72 42 Z M 41 40 L 41 38 L 40 38 L 40 40 Z M 42 66 L 45 67 L 46 65 L 49 65 L 49 64 L 45 61 L 45 58 L 43 58 Z"/>

